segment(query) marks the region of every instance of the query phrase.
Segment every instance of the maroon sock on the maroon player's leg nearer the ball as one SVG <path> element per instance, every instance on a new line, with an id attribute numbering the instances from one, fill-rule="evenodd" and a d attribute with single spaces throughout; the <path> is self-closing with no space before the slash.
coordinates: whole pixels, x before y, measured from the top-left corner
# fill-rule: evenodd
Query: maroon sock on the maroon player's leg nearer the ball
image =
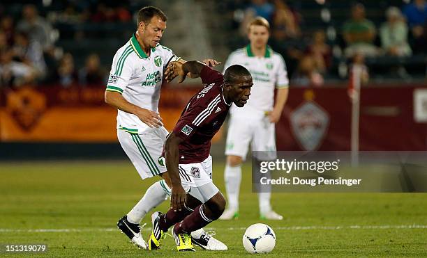
<path id="1" fill-rule="evenodd" d="M 197 206 L 194 211 L 186 216 L 182 220 L 181 223 L 175 225 L 174 230 L 176 234 L 186 233 L 190 234 L 191 232 L 201 229 L 202 227 L 208 225 L 213 220 L 210 218 L 207 218 L 205 216 L 206 207 L 204 207 L 204 204 Z"/>

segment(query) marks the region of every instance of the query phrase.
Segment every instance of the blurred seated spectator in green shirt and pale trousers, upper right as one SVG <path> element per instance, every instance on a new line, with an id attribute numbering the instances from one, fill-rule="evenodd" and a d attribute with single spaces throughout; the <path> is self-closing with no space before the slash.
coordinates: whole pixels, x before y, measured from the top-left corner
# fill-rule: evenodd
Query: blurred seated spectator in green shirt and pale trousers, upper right
<path id="1" fill-rule="evenodd" d="M 352 18 L 343 26 L 343 37 L 347 47 L 345 56 L 354 56 L 362 53 L 365 56 L 376 56 L 377 47 L 373 45 L 375 40 L 375 25 L 365 17 L 365 8 L 361 3 L 352 7 Z"/>

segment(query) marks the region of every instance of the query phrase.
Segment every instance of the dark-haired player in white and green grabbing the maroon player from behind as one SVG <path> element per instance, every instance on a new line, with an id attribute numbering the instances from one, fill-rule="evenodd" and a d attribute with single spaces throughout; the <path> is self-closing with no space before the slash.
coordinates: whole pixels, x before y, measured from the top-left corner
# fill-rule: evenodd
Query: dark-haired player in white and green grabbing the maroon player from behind
<path id="1" fill-rule="evenodd" d="M 117 138 L 133 166 L 142 179 L 163 177 L 151 185 L 135 207 L 117 223 L 121 232 L 144 249 L 149 246 L 142 238 L 140 222 L 148 211 L 167 200 L 171 192 L 165 164 L 159 159 L 168 132 L 158 113 L 158 100 L 167 64 L 181 58 L 159 44 L 166 20 L 166 15 L 156 7 L 147 6 L 139 11 L 137 31 L 114 55 L 105 90 L 105 102 L 118 109 Z M 204 63 L 218 64 L 211 59 Z M 191 236 L 203 239 L 198 243 L 204 243 L 204 249 L 227 249 L 203 229 Z"/>

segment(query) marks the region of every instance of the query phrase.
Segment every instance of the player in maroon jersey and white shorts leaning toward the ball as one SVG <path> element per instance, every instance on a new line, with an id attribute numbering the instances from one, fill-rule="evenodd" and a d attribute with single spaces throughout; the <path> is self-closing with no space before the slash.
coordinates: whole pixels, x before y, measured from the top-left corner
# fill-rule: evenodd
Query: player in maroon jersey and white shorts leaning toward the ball
<path id="1" fill-rule="evenodd" d="M 195 251 L 190 233 L 218 219 L 225 209 L 225 198 L 212 182 L 211 140 L 232 103 L 239 107 L 246 104 L 253 85 L 250 72 L 241 65 L 228 67 L 223 76 L 197 61 L 173 62 L 165 76 L 168 79 L 178 74 L 182 82 L 188 73 L 192 78 L 200 76 L 206 86 L 190 99 L 167 136 L 165 160 L 172 181 L 171 209 L 165 214 L 153 213 L 149 239 L 151 245 L 160 245 L 164 232 L 174 225 L 172 235 L 179 251 Z"/>

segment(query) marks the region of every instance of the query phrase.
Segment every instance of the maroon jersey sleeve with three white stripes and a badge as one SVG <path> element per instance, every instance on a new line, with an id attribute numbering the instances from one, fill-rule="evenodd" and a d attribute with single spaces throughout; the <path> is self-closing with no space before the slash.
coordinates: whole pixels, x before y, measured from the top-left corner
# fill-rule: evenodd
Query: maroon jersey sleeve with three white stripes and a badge
<path id="1" fill-rule="evenodd" d="M 191 138 L 195 131 L 215 117 L 213 111 L 220 102 L 220 95 L 209 95 L 197 99 L 198 96 L 200 95 L 190 99 L 177 125 L 172 130 L 183 140 Z"/>

